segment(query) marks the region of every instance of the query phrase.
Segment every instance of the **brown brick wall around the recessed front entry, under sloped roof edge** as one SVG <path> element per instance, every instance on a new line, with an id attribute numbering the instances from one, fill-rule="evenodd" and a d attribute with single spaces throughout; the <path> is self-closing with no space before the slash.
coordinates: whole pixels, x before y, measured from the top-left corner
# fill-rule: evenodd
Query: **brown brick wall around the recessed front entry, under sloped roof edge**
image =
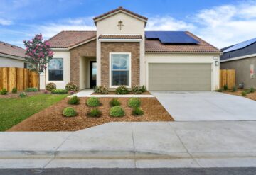
<path id="1" fill-rule="evenodd" d="M 96 57 L 96 40 L 70 50 L 70 81 L 80 85 L 80 57 Z"/>

